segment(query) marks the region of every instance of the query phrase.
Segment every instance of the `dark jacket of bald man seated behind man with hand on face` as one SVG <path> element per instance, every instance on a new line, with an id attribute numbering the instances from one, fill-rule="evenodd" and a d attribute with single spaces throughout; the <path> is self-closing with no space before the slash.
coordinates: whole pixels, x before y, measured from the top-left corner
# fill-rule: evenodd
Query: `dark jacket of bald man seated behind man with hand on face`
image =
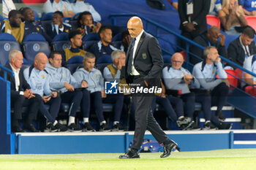
<path id="1" fill-rule="evenodd" d="M 203 34 L 200 34 L 199 36 L 195 37 L 195 39 L 193 39 L 193 42 L 196 42 L 198 45 L 202 45 L 203 47 L 207 47 L 209 45 L 211 46 L 214 46 L 217 48 L 218 50 L 218 53 L 219 55 L 222 55 L 222 57 L 225 57 L 227 58 L 227 53 L 226 53 L 226 46 L 222 46 L 220 45 L 220 42 L 217 41 L 216 43 L 214 44 L 211 44 L 208 39 L 206 38 L 206 34 L 207 32 L 203 33 Z M 209 44 L 210 43 L 210 44 Z M 197 55 L 198 57 L 203 58 L 203 50 L 198 48 L 198 47 L 195 47 L 195 46 L 192 46 L 190 48 L 190 52 Z M 200 62 L 200 59 L 198 58 L 195 58 L 193 56 L 191 56 L 189 58 L 190 62 L 193 63 L 193 64 L 196 64 L 196 63 L 199 63 Z"/>

